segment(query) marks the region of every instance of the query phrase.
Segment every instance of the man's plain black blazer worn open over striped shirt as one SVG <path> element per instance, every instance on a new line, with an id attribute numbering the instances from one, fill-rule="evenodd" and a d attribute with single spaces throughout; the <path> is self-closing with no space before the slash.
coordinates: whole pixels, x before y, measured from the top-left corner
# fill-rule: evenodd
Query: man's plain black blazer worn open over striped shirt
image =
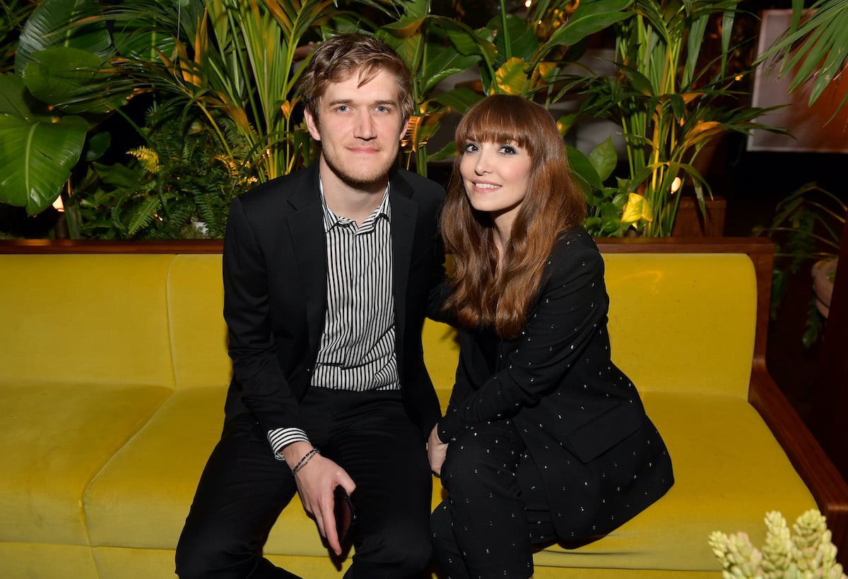
<path id="1" fill-rule="evenodd" d="M 427 437 L 440 415 L 424 366 L 421 325 L 444 275 L 437 214 L 444 190 L 404 170 L 390 177 L 394 315 L 407 414 Z M 326 313 L 326 237 L 318 164 L 232 203 L 223 256 L 224 318 L 233 378 L 226 420 L 252 415 L 263 431 L 304 428 Z"/>

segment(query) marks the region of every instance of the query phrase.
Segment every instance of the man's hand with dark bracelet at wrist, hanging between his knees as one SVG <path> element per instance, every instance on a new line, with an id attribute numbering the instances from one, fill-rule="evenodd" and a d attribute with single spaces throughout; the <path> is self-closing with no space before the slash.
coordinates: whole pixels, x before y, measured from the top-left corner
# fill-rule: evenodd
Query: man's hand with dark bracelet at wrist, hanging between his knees
<path id="1" fill-rule="evenodd" d="M 286 463 L 290 466 L 298 464 L 306 453 L 312 449 L 309 443 L 292 443 L 282 449 Z M 332 552 L 342 554 L 342 546 L 336 533 L 336 517 L 333 515 L 333 490 L 341 485 L 348 494 L 353 494 L 356 484 L 345 470 L 321 454 L 315 454 L 309 462 L 298 470 L 294 476 L 298 485 L 300 502 L 304 504 L 307 513 L 315 518 L 321 537 L 326 538 Z"/>

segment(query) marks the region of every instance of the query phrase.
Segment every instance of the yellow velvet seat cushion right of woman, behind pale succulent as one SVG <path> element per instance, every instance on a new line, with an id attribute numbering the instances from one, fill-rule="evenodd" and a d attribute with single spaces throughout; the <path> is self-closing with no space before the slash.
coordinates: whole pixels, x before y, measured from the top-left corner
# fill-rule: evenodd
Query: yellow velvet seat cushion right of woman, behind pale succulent
<path id="1" fill-rule="evenodd" d="M 711 532 L 747 532 L 760 545 L 767 511 L 794 521 L 816 507 L 750 404 L 699 393 L 643 398 L 672 456 L 674 486 L 606 537 L 572 551 L 547 548 L 537 565 L 720 571 L 706 542 Z"/>

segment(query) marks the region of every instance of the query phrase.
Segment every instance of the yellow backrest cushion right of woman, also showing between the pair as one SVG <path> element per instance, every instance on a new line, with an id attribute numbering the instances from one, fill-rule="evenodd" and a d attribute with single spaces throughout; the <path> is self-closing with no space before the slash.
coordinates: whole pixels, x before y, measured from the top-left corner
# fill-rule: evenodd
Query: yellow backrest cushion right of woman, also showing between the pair
<path id="1" fill-rule="evenodd" d="M 612 360 L 642 392 L 748 398 L 756 275 L 744 253 L 604 254 Z M 454 332 L 427 320 L 433 383 L 450 389 Z"/>

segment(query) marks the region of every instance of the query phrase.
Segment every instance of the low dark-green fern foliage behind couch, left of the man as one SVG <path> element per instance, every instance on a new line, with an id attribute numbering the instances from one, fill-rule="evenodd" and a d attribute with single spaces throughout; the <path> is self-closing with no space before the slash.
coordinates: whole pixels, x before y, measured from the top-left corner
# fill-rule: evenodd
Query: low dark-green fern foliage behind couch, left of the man
<path id="1" fill-rule="evenodd" d="M 226 118 L 229 150 L 196 109 L 153 107 L 142 133 L 149 145 L 132 149 L 126 164 L 92 164 L 66 211 L 79 237 L 171 239 L 224 237 L 232 199 L 253 180 L 232 154 L 248 143 Z"/>

